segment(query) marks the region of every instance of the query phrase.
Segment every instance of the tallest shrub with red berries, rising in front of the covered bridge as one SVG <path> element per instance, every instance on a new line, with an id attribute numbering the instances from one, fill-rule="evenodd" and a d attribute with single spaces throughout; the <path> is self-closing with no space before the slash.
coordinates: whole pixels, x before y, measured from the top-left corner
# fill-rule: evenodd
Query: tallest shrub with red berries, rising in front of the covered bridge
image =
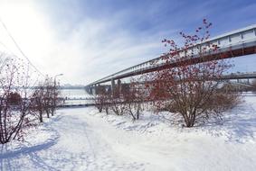
<path id="1" fill-rule="evenodd" d="M 205 55 L 218 51 L 215 44 L 198 45 L 209 39 L 211 25 L 212 23 L 207 23 L 204 19 L 203 26 L 196 29 L 196 34 L 187 35 L 180 32 L 185 40 L 182 48 L 178 48 L 174 40 L 163 40 L 169 45 L 170 51 L 160 59 L 161 62 L 176 62 L 179 66 L 157 71 L 150 86 L 151 96 L 160 104 L 169 101 L 169 111 L 179 113 L 186 127 L 193 127 L 199 118 L 206 119 L 206 116 L 214 113 L 216 105 L 220 104 L 212 103 L 219 85 L 215 78 L 223 76 L 223 72 L 231 67 L 219 57 L 216 57 L 218 60 L 204 60 Z M 190 48 L 193 50 L 189 50 Z M 199 63 L 194 64 L 194 58 L 197 58 Z M 225 58 L 225 54 L 221 54 L 221 58 Z"/>

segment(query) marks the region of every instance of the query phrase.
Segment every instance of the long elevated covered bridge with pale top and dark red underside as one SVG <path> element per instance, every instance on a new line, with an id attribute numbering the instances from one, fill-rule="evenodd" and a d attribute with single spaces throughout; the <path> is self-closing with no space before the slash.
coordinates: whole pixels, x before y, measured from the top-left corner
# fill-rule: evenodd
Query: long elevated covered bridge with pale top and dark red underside
<path id="1" fill-rule="evenodd" d="M 194 53 L 196 49 L 200 47 L 200 49 L 207 48 L 209 44 L 217 45 L 218 50 L 213 51 L 211 49 L 206 49 L 206 52 L 203 55 L 197 55 Z M 181 56 L 185 54 L 184 50 L 180 50 L 179 53 Z M 214 37 L 210 40 L 204 41 L 203 43 L 197 44 L 194 47 L 188 48 L 186 55 L 192 54 L 194 58 L 189 58 L 190 64 L 196 64 L 216 59 L 223 58 L 224 54 L 225 58 L 235 58 L 241 57 L 245 55 L 251 55 L 256 53 L 256 24 L 248 26 L 246 28 L 242 28 L 236 31 L 230 31 L 220 36 Z M 163 56 L 158 58 L 153 58 L 151 60 L 147 60 L 146 62 L 137 64 L 133 67 L 128 67 L 124 70 L 121 70 L 117 73 L 114 73 L 110 76 L 103 77 L 89 85 L 86 85 L 86 90 L 91 92 L 92 89 L 96 85 L 100 85 L 102 83 L 111 82 L 111 87 L 114 87 L 115 80 L 118 80 L 120 83 L 120 79 L 127 78 L 130 76 L 138 76 L 142 74 L 147 74 L 150 72 L 154 72 L 157 70 L 162 70 L 170 67 L 179 67 L 182 65 L 181 62 L 171 62 L 166 63 L 161 60 Z M 152 65 L 155 63 L 155 65 Z M 232 76 L 235 77 L 235 76 Z M 244 77 L 244 76 L 243 76 Z M 252 76 L 253 77 L 253 76 Z M 226 77 L 228 79 L 229 77 Z M 253 77 L 254 78 L 254 77 Z M 237 78 L 235 78 L 237 79 Z M 241 79 L 241 78 L 239 78 Z"/>

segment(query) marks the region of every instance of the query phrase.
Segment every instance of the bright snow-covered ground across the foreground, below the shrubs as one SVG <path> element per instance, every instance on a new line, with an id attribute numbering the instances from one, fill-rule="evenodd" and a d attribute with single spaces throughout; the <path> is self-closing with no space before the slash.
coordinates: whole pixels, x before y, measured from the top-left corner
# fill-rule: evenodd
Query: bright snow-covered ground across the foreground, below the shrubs
<path id="1" fill-rule="evenodd" d="M 62 109 L 26 141 L 0 145 L 0 170 L 255 170 L 256 97 L 223 124 L 182 128 L 166 113 L 140 121 L 94 108 Z"/>

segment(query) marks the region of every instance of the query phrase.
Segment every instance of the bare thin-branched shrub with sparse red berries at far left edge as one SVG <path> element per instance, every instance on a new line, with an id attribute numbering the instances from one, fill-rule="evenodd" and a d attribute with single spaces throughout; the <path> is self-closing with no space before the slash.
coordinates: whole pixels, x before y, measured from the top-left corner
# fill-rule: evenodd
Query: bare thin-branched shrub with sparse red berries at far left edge
<path id="1" fill-rule="evenodd" d="M 23 139 L 24 130 L 34 126 L 31 100 L 28 92 L 30 82 L 27 68 L 20 59 L 5 61 L 0 70 L 0 143 Z"/>

